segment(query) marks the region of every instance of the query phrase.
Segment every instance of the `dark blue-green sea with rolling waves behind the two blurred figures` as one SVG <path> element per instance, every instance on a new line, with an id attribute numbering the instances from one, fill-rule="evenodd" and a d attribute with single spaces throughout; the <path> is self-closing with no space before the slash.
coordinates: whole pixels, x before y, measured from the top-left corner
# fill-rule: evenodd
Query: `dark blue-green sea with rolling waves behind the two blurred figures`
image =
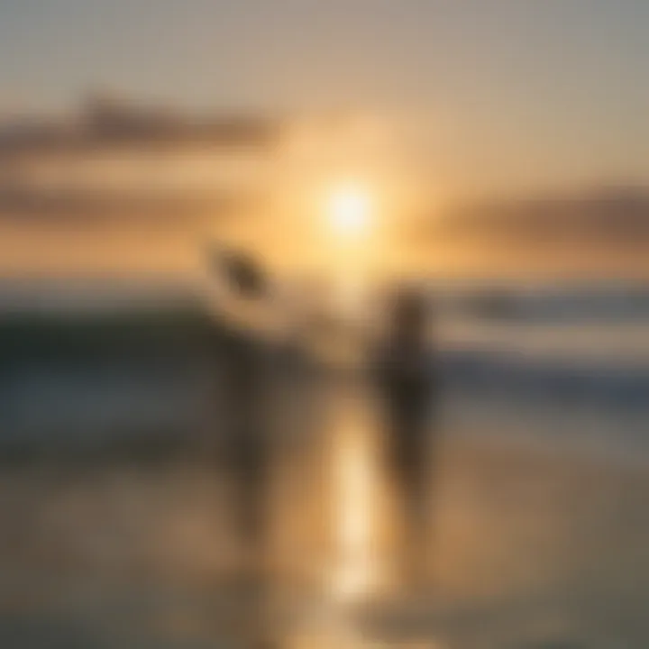
<path id="1" fill-rule="evenodd" d="M 219 380 L 210 310 L 197 294 L 156 287 L 147 299 L 127 288 L 104 288 L 103 309 L 95 293 L 90 310 L 87 289 L 77 306 L 64 287 L 65 299 L 50 290 L 39 310 L 5 290 L 3 441 L 155 438 L 204 425 Z M 454 287 L 433 299 L 431 346 L 454 429 L 647 457 L 649 288 Z M 345 326 L 319 335 L 344 337 Z M 301 344 L 306 358 L 309 336 L 293 335 L 269 345 L 277 355 Z M 352 338 L 356 351 L 366 342 Z"/>

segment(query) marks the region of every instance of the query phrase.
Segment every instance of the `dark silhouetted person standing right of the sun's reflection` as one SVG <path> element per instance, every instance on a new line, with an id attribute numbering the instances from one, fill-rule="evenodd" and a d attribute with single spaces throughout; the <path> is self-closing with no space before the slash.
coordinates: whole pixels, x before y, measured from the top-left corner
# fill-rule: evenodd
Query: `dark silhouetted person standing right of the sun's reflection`
<path id="1" fill-rule="evenodd" d="M 428 431 L 436 398 L 433 358 L 427 344 L 429 324 L 425 297 L 415 291 L 400 292 L 388 314 L 387 340 L 376 367 L 386 418 L 388 467 L 406 516 L 404 558 L 408 572 L 419 570 L 418 562 L 423 559 L 420 541 L 428 523 Z"/>

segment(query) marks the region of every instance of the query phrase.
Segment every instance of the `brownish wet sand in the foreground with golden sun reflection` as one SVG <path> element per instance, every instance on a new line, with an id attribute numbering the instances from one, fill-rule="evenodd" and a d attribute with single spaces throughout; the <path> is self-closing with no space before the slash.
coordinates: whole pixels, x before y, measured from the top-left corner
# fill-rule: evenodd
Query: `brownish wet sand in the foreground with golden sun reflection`
<path id="1" fill-rule="evenodd" d="M 371 594 L 395 547 L 384 543 L 397 518 L 367 396 L 324 394 L 312 430 L 287 434 L 276 453 L 271 599 L 293 610 L 277 636 L 285 646 L 304 626 L 298 604 L 351 610 L 347 596 Z M 377 595 L 350 644 L 649 645 L 649 471 L 445 428 L 424 593 Z M 256 591 L 233 577 L 227 503 L 223 478 L 198 457 L 5 464 L 0 645 L 251 645 Z M 300 645 L 342 645 L 334 632 L 306 636 Z"/>

